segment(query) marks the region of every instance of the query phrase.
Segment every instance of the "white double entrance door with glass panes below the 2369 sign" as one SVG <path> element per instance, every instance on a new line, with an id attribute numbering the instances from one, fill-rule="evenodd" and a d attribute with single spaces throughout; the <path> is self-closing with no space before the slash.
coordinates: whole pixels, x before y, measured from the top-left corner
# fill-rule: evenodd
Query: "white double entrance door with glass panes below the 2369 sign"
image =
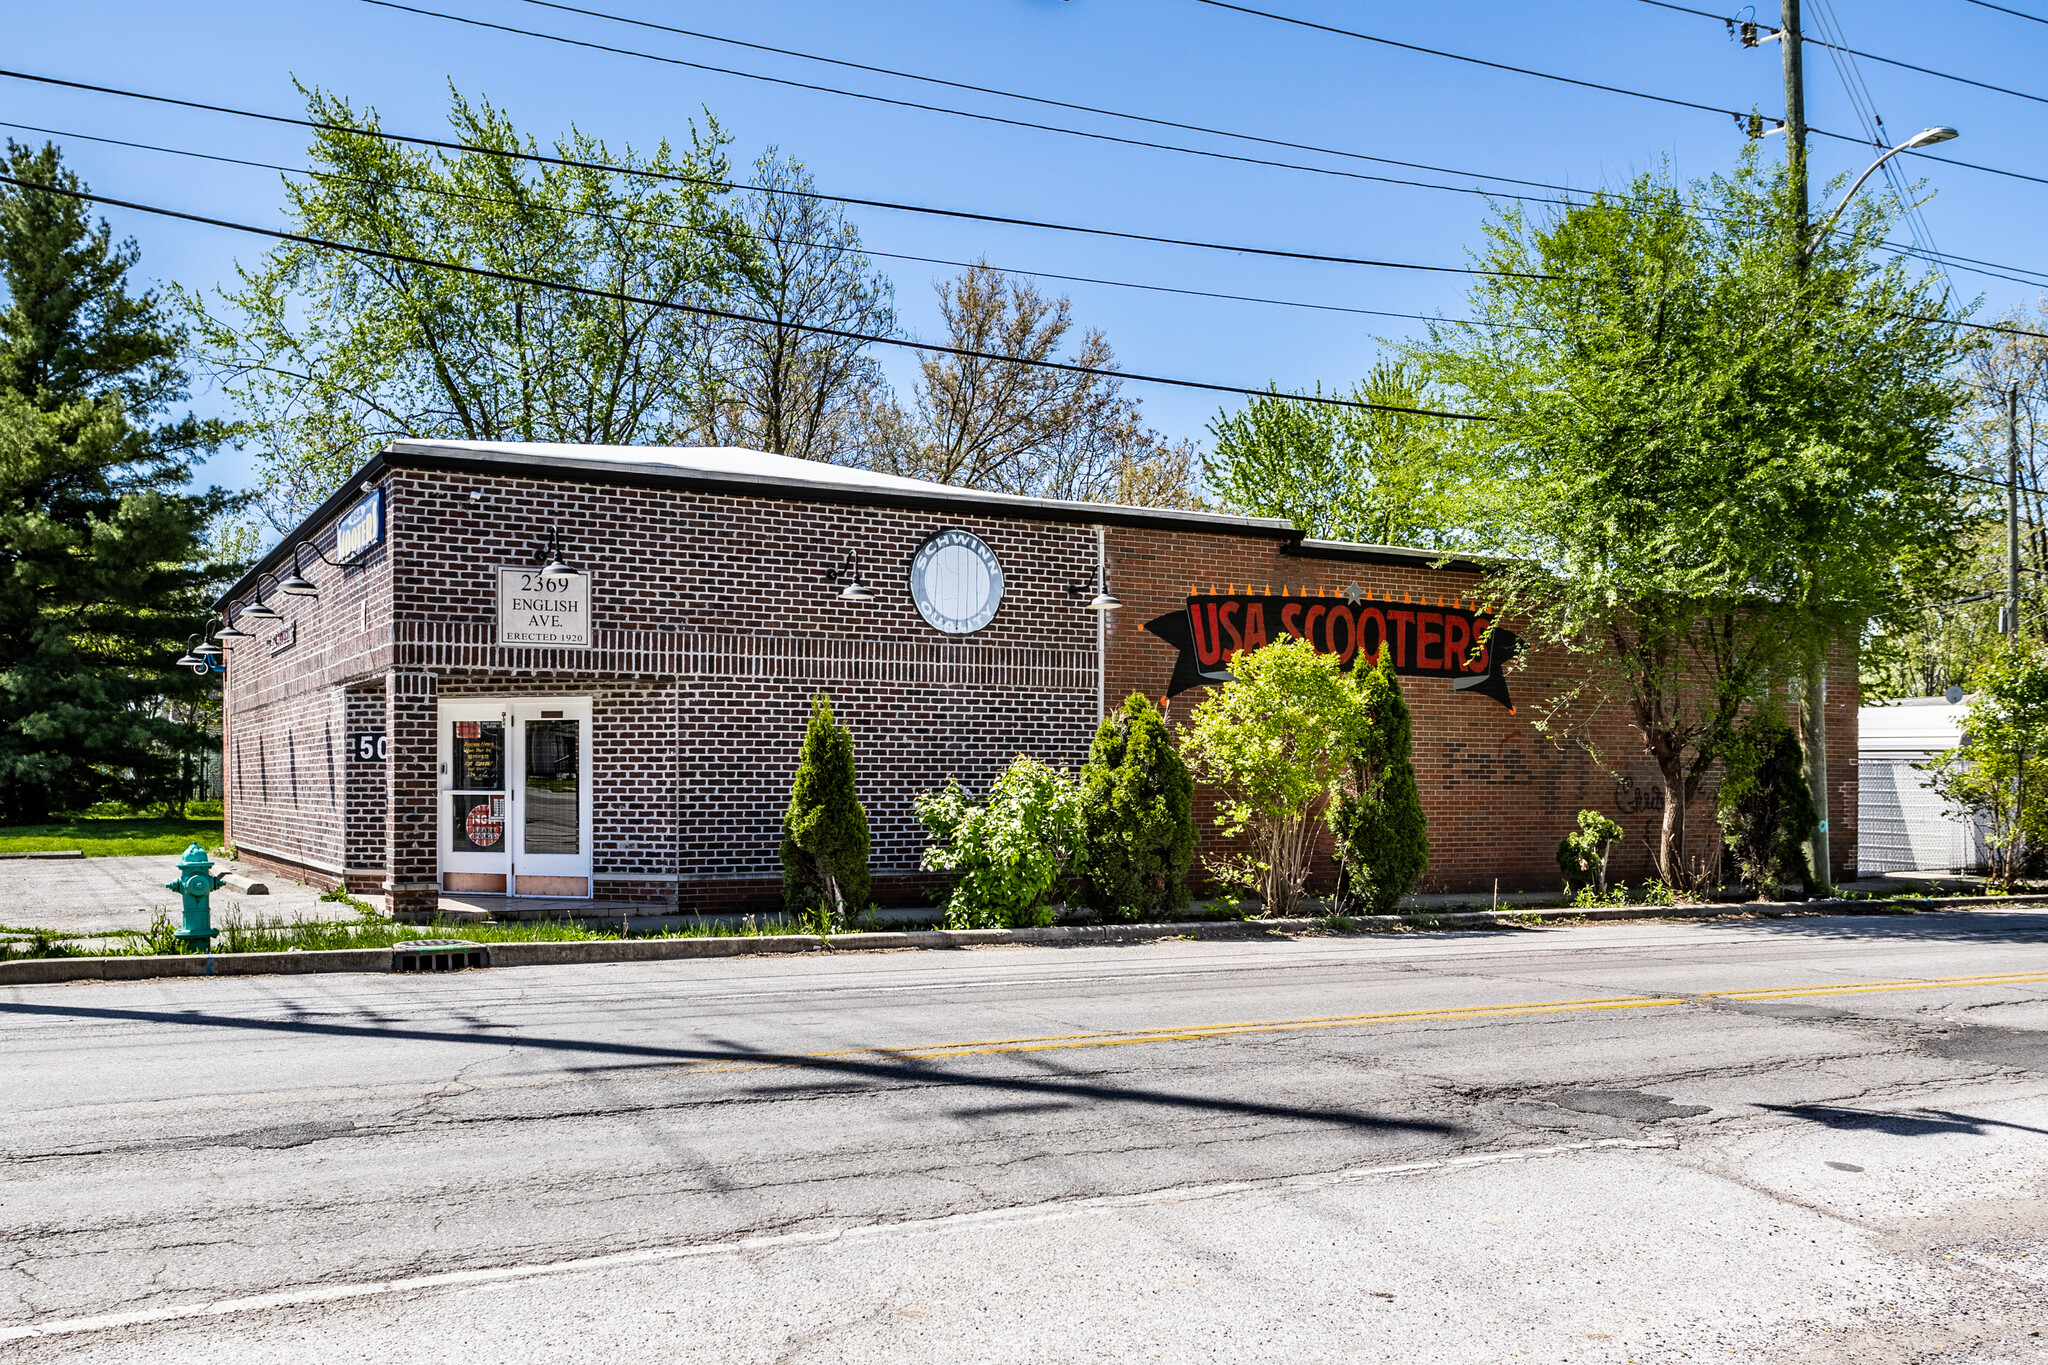
<path id="1" fill-rule="evenodd" d="M 592 894 L 590 700 L 440 704 L 440 888 Z"/>

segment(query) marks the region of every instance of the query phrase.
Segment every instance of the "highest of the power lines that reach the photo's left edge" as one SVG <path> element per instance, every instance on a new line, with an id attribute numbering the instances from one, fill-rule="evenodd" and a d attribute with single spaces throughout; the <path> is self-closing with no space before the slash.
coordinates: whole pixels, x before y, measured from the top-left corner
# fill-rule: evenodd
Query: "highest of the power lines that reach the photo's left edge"
<path id="1" fill-rule="evenodd" d="M 88 82 L 82 82 L 82 80 L 59 80 L 55 76 L 35 76 L 31 72 L 0 70 L 0 78 L 29 80 L 29 82 L 45 84 L 45 86 L 63 86 L 63 88 L 70 88 L 70 90 L 90 90 L 94 94 L 117 94 L 117 96 L 133 98 L 133 100 L 152 100 L 156 104 L 176 104 L 180 108 L 201 108 L 201 111 L 215 113 L 215 115 L 236 115 L 236 117 L 242 117 L 242 119 L 262 119 L 264 123 L 283 123 L 283 125 L 289 125 L 289 127 L 315 129 L 315 131 L 322 131 L 322 133 L 348 133 L 352 137 L 377 137 L 377 139 L 383 139 L 383 141 L 397 141 L 397 143 L 408 143 L 408 145 L 414 145 L 414 147 L 438 147 L 442 151 L 471 151 L 471 153 L 477 153 L 477 156 L 496 156 L 496 158 L 502 158 L 502 160 L 508 160 L 508 162 L 535 162 L 539 166 L 567 166 L 567 168 L 573 168 L 573 170 L 602 170 L 602 172 L 623 174 L 623 176 L 643 176 L 643 178 L 649 178 L 649 180 L 672 180 L 676 184 L 698 184 L 698 186 L 721 190 L 721 192 L 725 192 L 725 190 L 754 188 L 754 190 L 764 192 L 764 194 L 784 194 L 784 196 L 791 196 L 791 199 L 813 199 L 813 201 L 836 203 L 836 205 L 854 205 L 854 207 L 860 207 L 860 209 L 887 209 L 891 213 L 922 213 L 922 215 L 928 215 L 928 217 L 961 219 L 961 221 L 969 221 L 969 223 L 997 223 L 997 225 L 1004 225 L 1004 227 L 1036 227 L 1040 231 L 1071 231 L 1071 233 L 1081 233 L 1081 235 L 1087 235 L 1087 237 L 1114 237 L 1118 241 L 1149 241 L 1153 246 L 1186 246 L 1186 248 L 1196 248 L 1196 250 L 1202 250 L 1202 252 L 1229 252 L 1229 254 L 1237 254 L 1237 256 L 1266 256 L 1266 258 L 1274 258 L 1274 260 L 1309 260 L 1309 262 L 1319 262 L 1319 264 L 1331 264 L 1331 266 L 1374 266 L 1374 268 L 1380 268 L 1380 270 L 1421 270 L 1421 272 L 1430 272 L 1430 274 L 1513 276 L 1513 278 L 1528 278 L 1528 280 L 1548 280 L 1548 278 L 1552 278 L 1548 274 L 1532 274 L 1532 272 L 1518 272 L 1518 270 L 1481 270 L 1477 266 L 1423 266 L 1423 264 L 1399 262 L 1399 260 L 1372 260 L 1372 258 L 1364 258 L 1364 256 L 1327 256 L 1327 254 L 1321 254 L 1321 252 L 1288 252 L 1288 250 L 1270 248 L 1270 246 L 1231 246 L 1231 244 L 1225 244 L 1225 241 L 1198 241 L 1198 239 L 1192 239 L 1192 237 L 1163 237 L 1163 235 L 1157 235 L 1157 233 L 1118 231 L 1118 229 L 1112 229 L 1112 227 L 1083 227 L 1083 225 L 1077 225 L 1077 223 L 1047 223 L 1047 221 L 1038 221 L 1038 219 L 1006 217 L 1006 215 L 999 215 L 999 213 L 971 213 L 967 209 L 932 209 L 928 205 L 903 205 L 903 203 L 893 203 L 893 201 L 887 201 L 887 199 L 854 199 L 854 196 L 846 196 L 846 194 L 825 194 L 825 192 L 819 192 L 819 190 L 791 190 L 791 188 L 748 186 L 748 184 L 741 184 L 737 180 L 715 180 L 711 176 L 686 176 L 682 172 L 645 170 L 645 168 L 635 168 L 635 166 L 612 166 L 608 162 L 582 162 L 582 160 L 575 160 L 575 158 L 545 156 L 545 153 L 539 153 L 539 151 L 510 151 L 506 147 L 483 147 L 483 145 L 477 145 L 477 143 L 449 141 L 449 139 L 442 139 L 442 137 L 414 137 L 414 135 L 408 135 L 408 133 L 385 133 L 381 129 L 360 129 L 360 127 L 350 127 L 346 123 L 322 123 L 322 121 L 315 121 L 315 119 L 293 119 L 293 117 L 287 117 L 287 115 L 262 115 L 262 113 L 254 113 L 254 111 L 248 111 L 248 108 L 231 108 L 231 106 L 225 106 L 225 104 L 205 104 L 201 100 L 180 100 L 180 98 L 172 98 L 172 96 L 166 96 L 166 94 L 141 94 L 141 92 L 135 92 L 135 90 L 121 90 L 117 86 L 94 86 L 94 84 L 88 84 Z"/>

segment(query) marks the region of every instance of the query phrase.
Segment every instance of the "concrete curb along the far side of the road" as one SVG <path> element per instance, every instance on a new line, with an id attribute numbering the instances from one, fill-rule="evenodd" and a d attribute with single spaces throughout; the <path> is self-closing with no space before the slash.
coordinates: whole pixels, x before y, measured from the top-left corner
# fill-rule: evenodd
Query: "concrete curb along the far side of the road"
<path id="1" fill-rule="evenodd" d="M 1747 915 L 1913 915 L 1929 909 L 2044 905 L 2042 896 L 1935 896 L 1925 900 L 1749 900 L 1724 905 L 1604 905 L 1542 911 L 1446 911 L 1430 915 L 1352 915 L 1350 927 L 1393 929 L 1520 929 L 1534 923 L 1610 919 L 1741 919 Z M 586 939 L 569 943 L 487 943 L 492 966 L 569 966 L 596 962 L 684 962 L 690 958 L 745 958 L 809 952 L 901 952 L 938 948 L 989 948 L 997 943 L 1145 943 L 1157 939 L 1243 939 L 1313 933 L 1323 919 L 1194 921 L 1169 925 L 1053 925 L 1047 929 L 905 929 L 838 933 L 776 933 L 721 939 Z M 389 948 L 336 952 L 217 954 L 203 958 L 29 958 L 0 962 L 0 986 L 41 986 L 66 980 L 150 980 L 160 976 L 268 976 L 299 972 L 389 972 Z"/>

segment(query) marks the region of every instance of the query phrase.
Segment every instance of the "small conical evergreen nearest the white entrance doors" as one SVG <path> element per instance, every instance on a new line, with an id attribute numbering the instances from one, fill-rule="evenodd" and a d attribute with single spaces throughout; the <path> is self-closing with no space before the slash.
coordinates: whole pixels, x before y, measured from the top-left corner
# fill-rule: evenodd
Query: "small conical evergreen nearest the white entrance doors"
<path id="1" fill-rule="evenodd" d="M 811 698 L 782 814 L 782 902 L 834 927 L 868 909 L 868 812 L 854 790 L 854 737 L 831 718 L 831 698 Z"/>

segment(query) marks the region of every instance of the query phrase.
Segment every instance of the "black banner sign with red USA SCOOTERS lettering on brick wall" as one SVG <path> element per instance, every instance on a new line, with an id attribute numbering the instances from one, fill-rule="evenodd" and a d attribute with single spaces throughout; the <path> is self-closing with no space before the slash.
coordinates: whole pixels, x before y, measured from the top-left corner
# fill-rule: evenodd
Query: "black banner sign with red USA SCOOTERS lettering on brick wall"
<path id="1" fill-rule="evenodd" d="M 1231 681 L 1231 655 L 1292 636 L 1337 655 L 1346 669 L 1358 661 L 1376 665 L 1380 651 L 1391 649 L 1395 673 L 1403 677 L 1452 677 L 1456 692 L 1489 696 L 1509 714 L 1516 708 L 1501 665 L 1520 653 L 1522 641 L 1495 628 L 1485 610 L 1446 606 L 1442 598 L 1430 606 L 1427 600 L 1395 602 L 1393 593 L 1382 600 L 1372 593 L 1196 593 L 1145 628 L 1180 651 L 1167 696 Z"/>

